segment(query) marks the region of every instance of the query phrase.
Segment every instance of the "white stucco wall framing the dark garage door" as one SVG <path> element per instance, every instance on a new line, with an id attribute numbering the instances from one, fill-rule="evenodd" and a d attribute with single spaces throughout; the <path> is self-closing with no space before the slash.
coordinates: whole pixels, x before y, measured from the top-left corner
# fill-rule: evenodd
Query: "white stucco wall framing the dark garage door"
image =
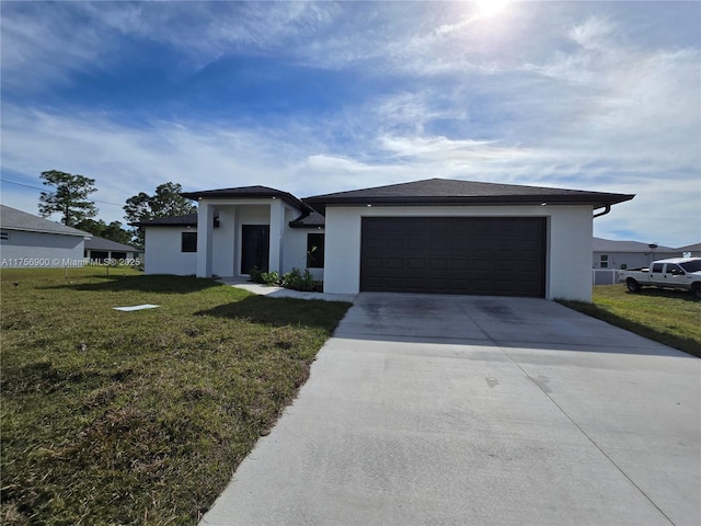
<path id="1" fill-rule="evenodd" d="M 591 206 L 406 206 L 327 207 L 324 290 L 360 288 L 360 224 L 369 216 L 463 216 L 548 218 L 545 297 L 591 299 Z"/>

